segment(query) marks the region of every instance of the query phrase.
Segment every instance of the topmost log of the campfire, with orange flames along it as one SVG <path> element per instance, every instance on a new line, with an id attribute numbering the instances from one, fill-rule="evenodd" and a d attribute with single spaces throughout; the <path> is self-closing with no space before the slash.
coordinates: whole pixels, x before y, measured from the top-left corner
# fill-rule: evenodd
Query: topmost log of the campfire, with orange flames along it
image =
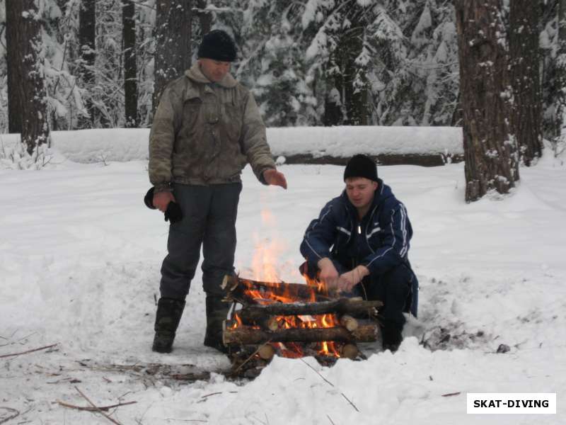
<path id="1" fill-rule="evenodd" d="M 243 304 L 258 304 L 259 300 L 270 298 L 270 296 L 272 300 L 282 297 L 304 302 L 328 301 L 332 299 L 325 288 L 318 288 L 313 285 L 260 282 L 229 275 L 224 276 L 221 288 L 226 290 L 226 298 L 228 300 L 236 300 Z M 249 291 L 255 292 L 257 296 L 250 296 L 247 293 Z"/>

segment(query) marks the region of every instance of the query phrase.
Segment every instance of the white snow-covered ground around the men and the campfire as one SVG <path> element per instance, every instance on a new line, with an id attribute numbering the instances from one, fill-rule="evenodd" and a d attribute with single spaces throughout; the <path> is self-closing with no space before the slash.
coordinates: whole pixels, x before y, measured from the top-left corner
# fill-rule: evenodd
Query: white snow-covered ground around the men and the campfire
<path id="1" fill-rule="evenodd" d="M 200 271 L 175 350 L 151 352 L 168 228 L 143 204 L 146 162 L 0 170 L 0 356 L 57 344 L 0 357 L 0 423 L 17 412 L 8 424 L 110 423 L 57 403 L 86 406 L 78 388 L 99 406 L 137 402 L 109 412 L 121 424 L 564 424 L 566 166 L 545 154 L 511 196 L 469 205 L 463 164 L 379 167 L 408 208 L 421 287 L 397 353 L 369 344 L 366 361 L 275 358 L 253 381 L 192 383 L 144 372 L 229 367 L 202 346 Z M 300 281 L 302 234 L 340 193 L 343 169 L 280 169 L 287 191 L 244 171 L 236 267 L 253 276 L 269 246 L 280 278 Z M 467 392 L 557 392 L 558 414 L 466 414 Z"/>

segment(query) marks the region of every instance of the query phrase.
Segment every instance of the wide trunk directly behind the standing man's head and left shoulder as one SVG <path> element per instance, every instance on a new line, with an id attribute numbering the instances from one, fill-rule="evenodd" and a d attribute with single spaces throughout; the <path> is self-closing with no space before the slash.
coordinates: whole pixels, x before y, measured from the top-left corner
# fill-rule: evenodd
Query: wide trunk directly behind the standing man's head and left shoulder
<path id="1" fill-rule="evenodd" d="M 157 0 L 154 112 L 169 81 L 190 68 L 191 0 Z"/>

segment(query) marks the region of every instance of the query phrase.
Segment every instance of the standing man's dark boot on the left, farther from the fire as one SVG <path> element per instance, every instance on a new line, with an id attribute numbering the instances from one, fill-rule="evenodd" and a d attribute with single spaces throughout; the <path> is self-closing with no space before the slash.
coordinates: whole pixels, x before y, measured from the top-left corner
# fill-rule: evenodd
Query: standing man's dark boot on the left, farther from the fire
<path id="1" fill-rule="evenodd" d="M 159 298 L 155 317 L 155 337 L 153 351 L 158 353 L 171 353 L 173 340 L 179 321 L 183 315 L 185 301 L 173 298 Z"/>

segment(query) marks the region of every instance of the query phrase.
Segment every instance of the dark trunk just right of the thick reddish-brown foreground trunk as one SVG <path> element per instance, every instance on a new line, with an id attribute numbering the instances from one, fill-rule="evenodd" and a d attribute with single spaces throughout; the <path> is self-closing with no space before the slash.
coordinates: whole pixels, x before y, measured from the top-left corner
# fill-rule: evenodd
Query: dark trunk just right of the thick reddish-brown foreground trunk
<path id="1" fill-rule="evenodd" d="M 537 1 L 513 0 L 509 13 L 509 70 L 513 89 L 513 133 L 524 164 L 541 157 L 542 97 L 538 77 Z"/>

